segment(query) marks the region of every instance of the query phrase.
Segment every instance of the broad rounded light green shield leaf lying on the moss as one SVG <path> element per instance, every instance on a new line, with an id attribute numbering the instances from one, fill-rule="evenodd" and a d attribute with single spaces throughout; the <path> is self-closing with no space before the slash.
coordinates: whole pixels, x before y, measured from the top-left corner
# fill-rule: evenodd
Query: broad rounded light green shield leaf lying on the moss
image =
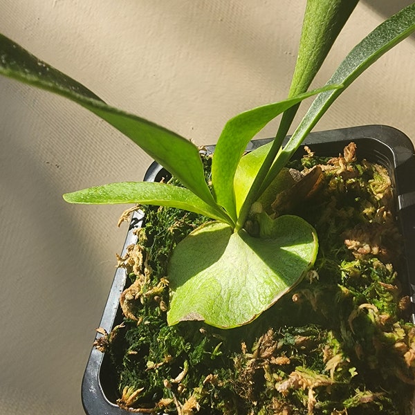
<path id="1" fill-rule="evenodd" d="M 254 320 L 314 263 L 315 230 L 297 216 L 275 219 L 272 237 L 209 223 L 178 243 L 169 262 L 167 322 L 204 320 L 230 329 Z"/>

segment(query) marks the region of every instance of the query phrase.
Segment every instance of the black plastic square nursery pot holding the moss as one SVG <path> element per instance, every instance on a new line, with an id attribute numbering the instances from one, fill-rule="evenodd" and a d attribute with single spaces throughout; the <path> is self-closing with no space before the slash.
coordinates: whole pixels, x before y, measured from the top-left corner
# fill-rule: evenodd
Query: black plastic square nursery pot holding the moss
<path id="1" fill-rule="evenodd" d="M 270 139 L 254 140 L 248 150 L 264 145 Z M 304 145 L 311 146 L 318 156 L 338 156 L 349 142 L 356 142 L 358 158 L 383 165 L 391 176 L 396 200 L 396 214 L 404 239 L 406 263 L 399 269 L 400 279 L 409 285 L 412 308 L 415 311 L 415 156 L 414 146 L 404 133 L 383 125 L 368 125 L 331 131 L 320 131 L 309 134 Z M 213 151 L 214 146 L 207 147 Z M 299 149 L 299 156 L 304 149 Z M 159 181 L 166 175 L 160 165 L 153 163 L 145 174 L 145 181 Z M 140 212 L 133 214 L 127 239 L 122 254 L 127 246 L 136 243 L 134 231 L 140 228 L 143 216 Z M 127 275 L 118 268 L 111 286 L 111 291 L 104 308 L 100 327 L 108 333 L 116 324 L 122 322 L 120 310 L 120 294 L 124 291 Z M 415 313 L 412 313 L 415 323 Z M 97 334 L 97 339 L 101 335 Z M 117 381 L 111 367 L 111 359 L 106 353 L 97 349 L 91 351 L 82 380 L 82 403 L 88 415 L 121 415 L 129 414 L 116 405 L 119 398 Z"/>

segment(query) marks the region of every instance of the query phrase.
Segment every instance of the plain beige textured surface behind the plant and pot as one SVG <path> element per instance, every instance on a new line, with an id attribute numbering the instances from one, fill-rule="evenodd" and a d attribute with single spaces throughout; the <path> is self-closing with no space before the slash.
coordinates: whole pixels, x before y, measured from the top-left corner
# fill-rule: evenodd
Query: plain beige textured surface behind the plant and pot
<path id="1" fill-rule="evenodd" d="M 0 31 L 107 102 L 214 143 L 225 120 L 285 98 L 305 1 L 0 0 Z M 362 0 L 315 86 L 387 15 Z M 317 129 L 415 137 L 415 39 L 342 95 Z M 149 157 L 64 100 L 0 79 L 0 413 L 81 414 L 80 383 L 126 228 L 122 207 L 62 193 L 142 178 Z M 275 126 L 261 136 L 271 136 Z"/>

